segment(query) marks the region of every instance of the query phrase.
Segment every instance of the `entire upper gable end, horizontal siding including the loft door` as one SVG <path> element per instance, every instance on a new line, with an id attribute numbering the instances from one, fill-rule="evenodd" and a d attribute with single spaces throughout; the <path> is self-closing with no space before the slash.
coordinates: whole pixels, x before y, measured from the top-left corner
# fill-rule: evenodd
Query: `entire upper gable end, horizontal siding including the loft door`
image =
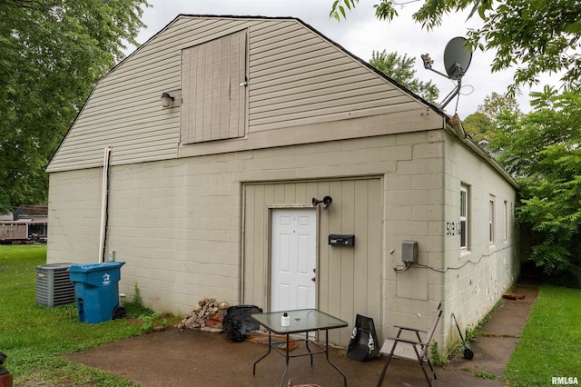
<path id="1" fill-rule="evenodd" d="M 169 109 L 166 92 L 176 97 Z M 442 128 L 445 119 L 299 19 L 178 15 L 103 76 L 47 171 L 100 166 L 108 146 L 112 164 L 132 164 Z"/>

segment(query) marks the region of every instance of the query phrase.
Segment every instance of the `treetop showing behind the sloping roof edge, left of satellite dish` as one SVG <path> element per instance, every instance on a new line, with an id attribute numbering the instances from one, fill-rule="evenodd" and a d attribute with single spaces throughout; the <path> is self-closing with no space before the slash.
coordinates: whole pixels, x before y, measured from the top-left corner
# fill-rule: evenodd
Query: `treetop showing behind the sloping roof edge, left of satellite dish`
<path id="1" fill-rule="evenodd" d="M 395 53 L 387 53 L 383 50 L 373 51 L 369 65 L 372 65 L 381 73 L 388 75 L 391 79 L 409 88 L 415 94 L 418 94 L 425 100 L 434 103 L 438 98 L 438 86 L 432 84 L 431 81 L 424 83 L 415 78 L 416 70 L 414 70 L 415 58 L 409 58 L 408 55 L 398 55 Z"/>

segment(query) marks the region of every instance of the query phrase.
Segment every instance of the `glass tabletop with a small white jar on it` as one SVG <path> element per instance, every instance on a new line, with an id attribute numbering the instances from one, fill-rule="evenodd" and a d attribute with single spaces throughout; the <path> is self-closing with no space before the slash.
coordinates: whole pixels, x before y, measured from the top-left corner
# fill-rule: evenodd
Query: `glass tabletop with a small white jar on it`
<path id="1" fill-rule="evenodd" d="M 291 321 L 289 326 L 281 325 L 282 315 L 285 312 L 289 314 Z M 317 309 L 254 313 L 251 316 L 269 331 L 279 334 L 319 331 L 321 329 L 342 328 L 348 325 L 347 322 Z"/>

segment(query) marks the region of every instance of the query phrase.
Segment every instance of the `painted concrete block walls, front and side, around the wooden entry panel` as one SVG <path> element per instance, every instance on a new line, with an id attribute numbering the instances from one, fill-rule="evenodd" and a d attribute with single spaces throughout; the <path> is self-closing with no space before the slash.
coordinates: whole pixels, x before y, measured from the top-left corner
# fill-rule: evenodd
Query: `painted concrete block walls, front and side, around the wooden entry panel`
<path id="1" fill-rule="evenodd" d="M 383 337 L 395 334 L 394 324 L 427 329 L 444 301 L 436 340 L 446 349 L 456 338 L 450 314 L 478 323 L 515 279 L 513 237 L 495 247 L 482 242 L 489 194 L 501 219 L 500 204 L 514 209 L 515 193 L 442 130 L 115 165 L 106 249 L 127 262 L 120 291 L 131 296 L 137 283 L 147 306 L 182 314 L 204 297 L 239 303 L 242 184 L 357 176 L 382 176 L 384 184 L 376 327 Z M 101 177 L 100 169 L 51 174 L 49 263 L 96 261 Z M 446 235 L 446 223 L 459 219 L 461 183 L 473 187 L 468 255 L 458 235 Z M 431 269 L 394 272 L 404 240 L 418 242 L 418 262 Z M 476 263 L 447 270 L 467 260 Z"/>

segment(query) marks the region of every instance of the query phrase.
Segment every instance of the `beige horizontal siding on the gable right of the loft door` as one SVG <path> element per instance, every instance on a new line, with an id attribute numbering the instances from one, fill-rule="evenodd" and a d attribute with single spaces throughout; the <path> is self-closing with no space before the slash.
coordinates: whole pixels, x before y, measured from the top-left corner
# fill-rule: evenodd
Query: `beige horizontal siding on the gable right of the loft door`
<path id="1" fill-rule="evenodd" d="M 251 133 L 419 108 L 303 25 L 260 25 L 251 32 Z"/>

